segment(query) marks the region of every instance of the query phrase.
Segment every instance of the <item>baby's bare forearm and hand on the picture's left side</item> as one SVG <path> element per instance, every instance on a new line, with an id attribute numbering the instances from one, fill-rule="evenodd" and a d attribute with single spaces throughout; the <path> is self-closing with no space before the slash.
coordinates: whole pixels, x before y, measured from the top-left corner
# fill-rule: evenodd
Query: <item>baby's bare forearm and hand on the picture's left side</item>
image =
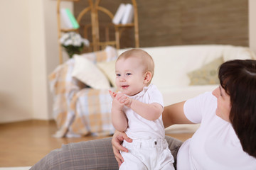
<path id="1" fill-rule="evenodd" d="M 128 126 L 127 117 L 124 111 L 122 111 L 124 103 L 121 101 L 123 98 L 112 91 L 110 91 L 110 95 L 113 98 L 111 110 L 112 125 L 116 130 L 123 132 L 127 129 Z"/>

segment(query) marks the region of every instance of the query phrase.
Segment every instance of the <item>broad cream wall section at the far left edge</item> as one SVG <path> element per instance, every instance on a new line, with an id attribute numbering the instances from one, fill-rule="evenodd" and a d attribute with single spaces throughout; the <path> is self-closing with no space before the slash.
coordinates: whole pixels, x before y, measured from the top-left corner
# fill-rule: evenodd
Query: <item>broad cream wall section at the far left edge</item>
<path id="1" fill-rule="evenodd" d="M 28 16 L 28 0 L 0 1 L 0 122 L 33 116 Z"/>

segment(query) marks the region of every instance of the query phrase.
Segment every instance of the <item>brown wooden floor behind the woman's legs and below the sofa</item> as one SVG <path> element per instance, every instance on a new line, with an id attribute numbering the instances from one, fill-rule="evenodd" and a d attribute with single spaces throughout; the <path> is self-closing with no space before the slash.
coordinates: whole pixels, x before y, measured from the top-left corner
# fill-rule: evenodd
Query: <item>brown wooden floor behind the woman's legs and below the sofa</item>
<path id="1" fill-rule="evenodd" d="M 51 150 L 63 144 L 96 140 L 102 137 L 55 138 L 54 121 L 28 120 L 19 123 L 0 124 L 0 167 L 32 166 Z M 186 140 L 192 133 L 169 134 Z"/>

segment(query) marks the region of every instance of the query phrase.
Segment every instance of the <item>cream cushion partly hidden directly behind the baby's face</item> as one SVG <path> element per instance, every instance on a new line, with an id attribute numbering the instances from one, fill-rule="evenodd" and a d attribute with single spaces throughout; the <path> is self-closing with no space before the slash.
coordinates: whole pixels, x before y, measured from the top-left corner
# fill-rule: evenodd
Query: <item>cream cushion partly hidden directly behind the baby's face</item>
<path id="1" fill-rule="evenodd" d="M 113 60 L 111 62 L 97 62 L 97 67 L 99 67 L 101 71 L 105 74 L 107 79 L 110 80 L 112 86 L 117 87 L 115 84 L 115 62 L 116 60 Z"/>

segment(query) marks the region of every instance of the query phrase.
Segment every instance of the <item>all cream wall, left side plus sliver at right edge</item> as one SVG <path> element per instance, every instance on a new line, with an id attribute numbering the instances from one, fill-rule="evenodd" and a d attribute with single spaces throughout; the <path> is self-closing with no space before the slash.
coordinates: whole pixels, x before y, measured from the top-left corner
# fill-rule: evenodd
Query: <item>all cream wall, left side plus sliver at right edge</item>
<path id="1" fill-rule="evenodd" d="M 58 65 L 56 3 L 0 1 L 0 123 L 52 118 L 48 74 Z M 249 40 L 256 52 L 255 8 L 249 0 Z"/>

